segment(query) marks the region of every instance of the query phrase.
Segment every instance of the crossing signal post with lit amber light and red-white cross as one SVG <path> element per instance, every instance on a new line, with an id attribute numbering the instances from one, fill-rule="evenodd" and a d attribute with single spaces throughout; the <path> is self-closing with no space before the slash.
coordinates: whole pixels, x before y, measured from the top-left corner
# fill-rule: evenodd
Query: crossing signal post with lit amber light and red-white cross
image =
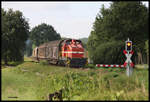
<path id="1" fill-rule="evenodd" d="M 124 66 L 126 67 L 126 74 L 127 76 L 130 76 L 132 75 L 134 64 L 131 61 L 131 56 L 133 55 L 133 51 L 132 51 L 132 41 L 130 41 L 129 38 L 125 42 L 125 50 L 123 52 L 127 57 L 127 60 L 124 63 Z"/>

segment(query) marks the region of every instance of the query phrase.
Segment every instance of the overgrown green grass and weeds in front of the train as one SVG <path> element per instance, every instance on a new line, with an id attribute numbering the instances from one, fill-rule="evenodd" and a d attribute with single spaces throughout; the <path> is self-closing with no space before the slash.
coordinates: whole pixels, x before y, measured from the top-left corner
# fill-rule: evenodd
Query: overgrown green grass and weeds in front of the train
<path id="1" fill-rule="evenodd" d="M 148 69 L 135 68 L 127 77 L 120 68 L 75 69 L 26 57 L 24 63 L 2 69 L 2 100 L 47 100 L 62 88 L 63 100 L 148 100 L 148 85 Z"/>

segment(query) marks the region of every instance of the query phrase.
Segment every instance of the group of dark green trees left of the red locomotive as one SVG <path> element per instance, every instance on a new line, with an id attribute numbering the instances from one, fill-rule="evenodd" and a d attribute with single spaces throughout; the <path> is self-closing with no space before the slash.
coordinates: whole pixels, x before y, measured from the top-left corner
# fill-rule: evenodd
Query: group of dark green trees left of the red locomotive
<path id="1" fill-rule="evenodd" d="M 11 61 L 23 61 L 24 54 L 31 56 L 35 46 L 61 39 L 53 26 L 42 23 L 30 30 L 28 20 L 19 10 L 1 9 L 2 17 L 2 56 L 4 64 Z"/>

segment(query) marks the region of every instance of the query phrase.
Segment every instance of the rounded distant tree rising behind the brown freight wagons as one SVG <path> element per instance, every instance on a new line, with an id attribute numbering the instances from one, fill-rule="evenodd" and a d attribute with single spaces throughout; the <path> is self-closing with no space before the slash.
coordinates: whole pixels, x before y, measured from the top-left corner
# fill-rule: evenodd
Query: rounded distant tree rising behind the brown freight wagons
<path id="1" fill-rule="evenodd" d="M 61 37 L 51 25 L 42 23 L 31 30 L 30 39 L 33 44 L 39 46 L 40 44 L 48 41 L 61 39 Z"/>

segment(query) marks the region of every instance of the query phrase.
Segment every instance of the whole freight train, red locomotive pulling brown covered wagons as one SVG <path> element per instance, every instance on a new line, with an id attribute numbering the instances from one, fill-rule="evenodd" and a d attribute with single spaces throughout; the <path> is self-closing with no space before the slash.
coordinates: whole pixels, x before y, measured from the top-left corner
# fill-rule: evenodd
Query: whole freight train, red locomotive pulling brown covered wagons
<path id="1" fill-rule="evenodd" d="M 87 64 L 83 44 L 81 40 L 75 39 L 44 43 L 33 50 L 32 58 L 36 61 L 47 60 L 49 63 L 68 67 L 84 67 Z"/>

